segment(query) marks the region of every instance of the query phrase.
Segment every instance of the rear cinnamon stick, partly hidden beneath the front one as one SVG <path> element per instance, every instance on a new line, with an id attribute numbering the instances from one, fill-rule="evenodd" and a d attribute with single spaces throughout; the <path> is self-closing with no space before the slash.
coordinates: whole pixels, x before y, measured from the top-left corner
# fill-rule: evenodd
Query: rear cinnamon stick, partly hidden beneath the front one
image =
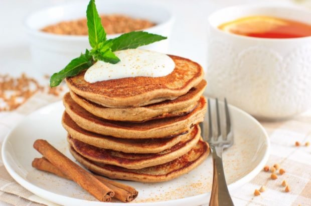
<path id="1" fill-rule="evenodd" d="M 60 171 L 58 168 L 56 168 L 51 162 L 49 162 L 49 160 L 47 160 L 46 158 L 42 157 L 42 158 L 35 158 L 32 162 L 32 166 L 43 170 L 43 171 L 48 171 L 51 173 L 54 173 L 60 177 L 63 178 L 67 178 L 70 179 L 70 177 L 68 177 L 66 174 L 64 174 L 62 171 Z M 126 184 L 122 184 L 119 182 L 115 182 L 113 180 L 108 180 L 102 176 L 99 175 L 94 175 L 98 180 L 100 180 L 101 182 L 103 182 L 106 186 L 108 186 L 110 189 L 112 189 L 114 191 L 114 197 L 116 197 L 117 199 L 123 201 L 123 202 L 130 202 L 133 199 L 135 199 L 137 197 L 138 192 L 135 190 L 135 188 L 128 186 Z M 72 180 L 72 179 L 70 179 Z M 109 183 L 111 182 L 111 183 Z M 117 184 L 120 185 L 119 187 L 113 184 Z M 122 188 L 123 187 L 123 188 Z M 134 194 L 130 193 L 129 191 L 125 190 L 124 188 L 130 188 L 129 190 L 134 191 Z"/>

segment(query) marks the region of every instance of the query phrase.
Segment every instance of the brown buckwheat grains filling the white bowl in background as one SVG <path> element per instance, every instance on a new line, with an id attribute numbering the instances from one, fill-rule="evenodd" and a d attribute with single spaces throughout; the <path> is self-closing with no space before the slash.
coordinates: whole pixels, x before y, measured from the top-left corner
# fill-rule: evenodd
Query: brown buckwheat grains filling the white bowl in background
<path id="1" fill-rule="evenodd" d="M 133 18 L 121 14 L 107 14 L 101 15 L 100 17 L 101 23 L 104 26 L 107 34 L 142 30 L 156 25 L 149 20 Z M 88 35 L 86 18 L 80 18 L 71 21 L 61 21 L 56 24 L 48 25 L 41 30 L 44 32 L 63 35 Z"/>

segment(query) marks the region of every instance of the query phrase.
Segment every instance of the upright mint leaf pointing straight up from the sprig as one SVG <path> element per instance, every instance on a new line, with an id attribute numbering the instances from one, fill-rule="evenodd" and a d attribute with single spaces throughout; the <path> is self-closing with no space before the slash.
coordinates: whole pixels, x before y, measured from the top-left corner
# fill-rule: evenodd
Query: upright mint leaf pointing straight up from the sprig
<path id="1" fill-rule="evenodd" d="M 94 48 L 98 43 L 106 40 L 106 32 L 101 24 L 100 17 L 98 15 L 95 0 L 90 0 L 87 10 L 87 27 L 89 32 L 89 42 L 90 45 Z"/>

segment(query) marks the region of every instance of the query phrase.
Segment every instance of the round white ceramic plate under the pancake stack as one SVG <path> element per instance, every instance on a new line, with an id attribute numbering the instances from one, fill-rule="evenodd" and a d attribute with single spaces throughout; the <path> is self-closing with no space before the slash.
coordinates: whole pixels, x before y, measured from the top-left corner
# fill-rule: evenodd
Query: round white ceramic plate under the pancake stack
<path id="1" fill-rule="evenodd" d="M 214 104 L 214 101 L 212 101 Z M 45 106 L 20 122 L 6 137 L 2 156 L 4 164 L 25 188 L 40 197 L 64 205 L 111 205 L 97 201 L 76 183 L 34 169 L 31 162 L 41 157 L 33 142 L 46 139 L 65 155 L 66 131 L 61 125 L 62 102 Z M 224 168 L 229 189 L 251 180 L 263 168 L 269 155 L 269 141 L 259 122 L 244 111 L 230 106 L 235 142 L 224 152 Z M 139 195 L 133 205 L 199 205 L 207 203 L 212 188 L 212 159 L 179 178 L 160 183 L 122 181 L 134 186 Z M 123 205 L 114 203 L 113 205 Z"/>

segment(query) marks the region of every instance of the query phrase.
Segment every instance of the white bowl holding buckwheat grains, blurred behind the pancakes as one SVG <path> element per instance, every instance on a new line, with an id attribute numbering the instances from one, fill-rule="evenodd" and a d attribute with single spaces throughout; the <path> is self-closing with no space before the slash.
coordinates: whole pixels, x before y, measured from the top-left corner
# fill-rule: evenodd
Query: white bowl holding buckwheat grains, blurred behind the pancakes
<path id="1" fill-rule="evenodd" d="M 37 71 L 52 74 L 65 67 L 69 61 L 90 48 L 88 36 L 59 35 L 43 32 L 40 29 L 63 20 L 86 17 L 87 1 L 54 6 L 32 13 L 26 19 L 31 54 Z M 170 11 L 159 5 L 149 3 L 130 3 L 126 0 L 96 1 L 98 12 L 119 13 L 156 22 L 155 26 L 144 29 L 170 37 L 173 17 Z M 107 35 L 114 38 L 120 34 Z M 144 48 L 167 52 L 168 40 L 152 43 Z"/>

